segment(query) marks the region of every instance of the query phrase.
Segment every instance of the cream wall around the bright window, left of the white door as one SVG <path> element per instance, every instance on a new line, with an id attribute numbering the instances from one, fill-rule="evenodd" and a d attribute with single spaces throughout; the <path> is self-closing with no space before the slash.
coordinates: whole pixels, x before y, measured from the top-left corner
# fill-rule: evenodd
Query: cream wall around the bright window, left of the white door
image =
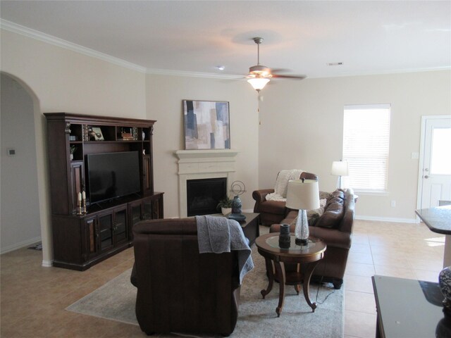
<path id="1" fill-rule="evenodd" d="M 279 170 L 319 175 L 320 189 L 335 189 L 332 161 L 342 155 L 345 104 L 391 104 L 388 194 L 359 194 L 360 218 L 414 221 L 421 115 L 451 112 L 451 72 L 436 71 L 279 81 L 262 91 L 259 186 L 273 187 Z M 396 207 L 390 207 L 390 201 Z"/>

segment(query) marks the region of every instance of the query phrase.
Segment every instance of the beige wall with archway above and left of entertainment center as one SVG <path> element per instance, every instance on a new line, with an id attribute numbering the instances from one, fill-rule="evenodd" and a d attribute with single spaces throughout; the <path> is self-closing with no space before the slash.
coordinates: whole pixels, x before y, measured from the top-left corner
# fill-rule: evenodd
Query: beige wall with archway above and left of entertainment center
<path id="1" fill-rule="evenodd" d="M 43 263 L 51 263 L 51 220 L 44 112 L 145 118 L 145 75 L 99 58 L 1 30 L 1 71 L 17 77 L 39 100 L 35 143 Z M 18 147 L 22 144 L 18 142 Z M 7 179 L 7 178 L 6 178 Z M 16 206 L 16 213 L 21 212 Z M 1 227 L 12 227 L 4 224 Z"/>

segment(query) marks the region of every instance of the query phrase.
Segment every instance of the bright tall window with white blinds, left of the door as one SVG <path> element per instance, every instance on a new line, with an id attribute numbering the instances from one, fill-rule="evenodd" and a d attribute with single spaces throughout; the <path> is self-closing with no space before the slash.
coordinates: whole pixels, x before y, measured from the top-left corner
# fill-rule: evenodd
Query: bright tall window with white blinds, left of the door
<path id="1" fill-rule="evenodd" d="M 349 174 L 345 187 L 363 192 L 385 192 L 388 177 L 390 105 L 345 106 L 343 156 Z"/>

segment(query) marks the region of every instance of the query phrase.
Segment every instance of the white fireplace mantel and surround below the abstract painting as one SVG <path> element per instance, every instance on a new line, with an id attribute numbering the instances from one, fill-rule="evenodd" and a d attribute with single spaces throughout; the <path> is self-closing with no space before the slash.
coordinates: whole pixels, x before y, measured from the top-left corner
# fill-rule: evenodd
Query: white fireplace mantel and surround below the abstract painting
<path id="1" fill-rule="evenodd" d="M 227 178 L 227 187 L 233 182 L 237 151 L 222 150 L 178 150 L 178 206 L 180 217 L 187 216 L 187 180 Z"/>

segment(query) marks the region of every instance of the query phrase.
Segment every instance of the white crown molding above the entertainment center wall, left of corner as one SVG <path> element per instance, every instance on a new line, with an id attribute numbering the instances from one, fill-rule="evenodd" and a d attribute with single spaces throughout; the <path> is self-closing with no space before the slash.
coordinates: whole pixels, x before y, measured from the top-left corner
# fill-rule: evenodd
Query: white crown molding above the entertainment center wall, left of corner
<path id="1" fill-rule="evenodd" d="M 77 53 L 84 54 L 86 56 L 99 58 L 102 61 L 107 61 L 115 65 L 120 65 L 121 67 L 128 68 L 131 70 L 136 70 L 137 72 L 140 73 L 146 73 L 145 67 L 136 65 L 135 63 L 124 61 L 121 58 L 115 58 L 113 56 L 109 56 L 108 54 L 104 54 L 99 51 L 94 51 L 94 49 L 89 49 L 84 46 L 80 46 L 79 44 L 73 44 L 72 42 L 68 42 L 66 40 L 45 34 L 43 32 L 39 32 L 37 30 L 32 30 L 31 28 L 18 25 L 17 23 L 11 23 L 11 21 L 8 20 L 0 20 L 0 28 L 2 30 L 8 30 L 10 32 L 23 35 L 25 37 L 30 37 L 32 39 L 37 39 L 42 42 L 47 42 L 48 44 L 53 44 L 54 46 L 69 49 L 70 51 L 75 51 Z"/>

